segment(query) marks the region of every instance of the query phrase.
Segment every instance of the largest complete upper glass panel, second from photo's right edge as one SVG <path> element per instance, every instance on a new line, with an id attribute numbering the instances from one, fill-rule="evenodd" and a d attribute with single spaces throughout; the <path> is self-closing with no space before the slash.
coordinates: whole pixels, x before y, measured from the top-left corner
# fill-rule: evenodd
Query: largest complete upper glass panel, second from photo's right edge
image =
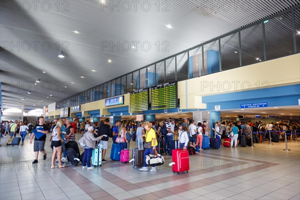
<path id="1" fill-rule="evenodd" d="M 273 17 L 264 23 L 266 59 L 293 54 L 291 12 Z"/>

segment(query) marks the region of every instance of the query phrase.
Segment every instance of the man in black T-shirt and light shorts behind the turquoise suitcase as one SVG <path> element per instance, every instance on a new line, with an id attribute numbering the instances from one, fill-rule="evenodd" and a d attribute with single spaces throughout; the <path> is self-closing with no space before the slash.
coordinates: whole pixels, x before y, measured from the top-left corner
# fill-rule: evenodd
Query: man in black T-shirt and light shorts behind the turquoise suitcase
<path id="1" fill-rule="evenodd" d="M 102 145 L 102 162 L 106 162 L 104 157 L 108 146 L 109 132 L 110 132 L 109 119 L 105 118 L 104 123 L 101 123 L 98 128 L 98 137 L 101 136 L 100 144 Z"/>

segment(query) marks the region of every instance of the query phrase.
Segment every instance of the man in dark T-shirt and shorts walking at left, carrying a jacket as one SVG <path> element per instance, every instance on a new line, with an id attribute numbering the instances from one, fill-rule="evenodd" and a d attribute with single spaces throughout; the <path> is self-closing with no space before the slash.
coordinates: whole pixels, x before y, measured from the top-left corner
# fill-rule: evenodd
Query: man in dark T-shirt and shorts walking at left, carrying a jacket
<path id="1" fill-rule="evenodd" d="M 38 162 L 38 160 L 37 160 L 38 159 L 38 151 L 41 152 L 44 160 L 47 158 L 47 154 L 44 150 L 44 146 L 45 146 L 46 134 L 48 133 L 48 126 L 46 124 L 44 124 L 43 116 L 38 117 L 38 123 L 35 123 L 33 129 L 36 129 L 36 128 L 43 128 L 44 130 L 37 130 L 37 132 L 41 132 L 44 135 L 42 135 L 38 139 L 36 137 L 34 137 L 33 151 L 34 151 L 35 159 L 33 160 L 32 164 Z M 30 143 L 32 143 L 33 136 L 34 136 L 34 134 L 31 134 Z"/>

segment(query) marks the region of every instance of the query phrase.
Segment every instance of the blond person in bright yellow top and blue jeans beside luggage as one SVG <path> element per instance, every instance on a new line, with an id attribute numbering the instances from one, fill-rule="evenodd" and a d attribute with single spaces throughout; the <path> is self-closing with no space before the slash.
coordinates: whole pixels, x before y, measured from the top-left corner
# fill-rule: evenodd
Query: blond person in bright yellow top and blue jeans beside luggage
<path id="1" fill-rule="evenodd" d="M 151 127 L 150 123 L 148 121 L 143 122 L 144 128 L 146 130 L 146 134 L 141 135 L 140 137 L 145 137 L 145 142 L 151 142 L 150 148 L 145 148 L 143 152 L 143 166 L 139 168 L 140 171 L 147 171 L 149 170 L 146 164 L 146 155 L 152 153 L 155 149 L 155 146 L 157 145 L 157 139 L 155 135 L 155 131 Z M 155 166 L 152 166 L 150 171 L 156 171 Z"/>

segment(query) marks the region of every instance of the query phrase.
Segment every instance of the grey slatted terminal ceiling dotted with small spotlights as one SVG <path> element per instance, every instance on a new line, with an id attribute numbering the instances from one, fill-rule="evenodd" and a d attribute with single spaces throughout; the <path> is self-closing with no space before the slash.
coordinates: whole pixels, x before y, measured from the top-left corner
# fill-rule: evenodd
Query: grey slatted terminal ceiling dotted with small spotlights
<path id="1" fill-rule="evenodd" d="M 3 104 L 48 105 L 298 3 L 3 0 Z"/>

